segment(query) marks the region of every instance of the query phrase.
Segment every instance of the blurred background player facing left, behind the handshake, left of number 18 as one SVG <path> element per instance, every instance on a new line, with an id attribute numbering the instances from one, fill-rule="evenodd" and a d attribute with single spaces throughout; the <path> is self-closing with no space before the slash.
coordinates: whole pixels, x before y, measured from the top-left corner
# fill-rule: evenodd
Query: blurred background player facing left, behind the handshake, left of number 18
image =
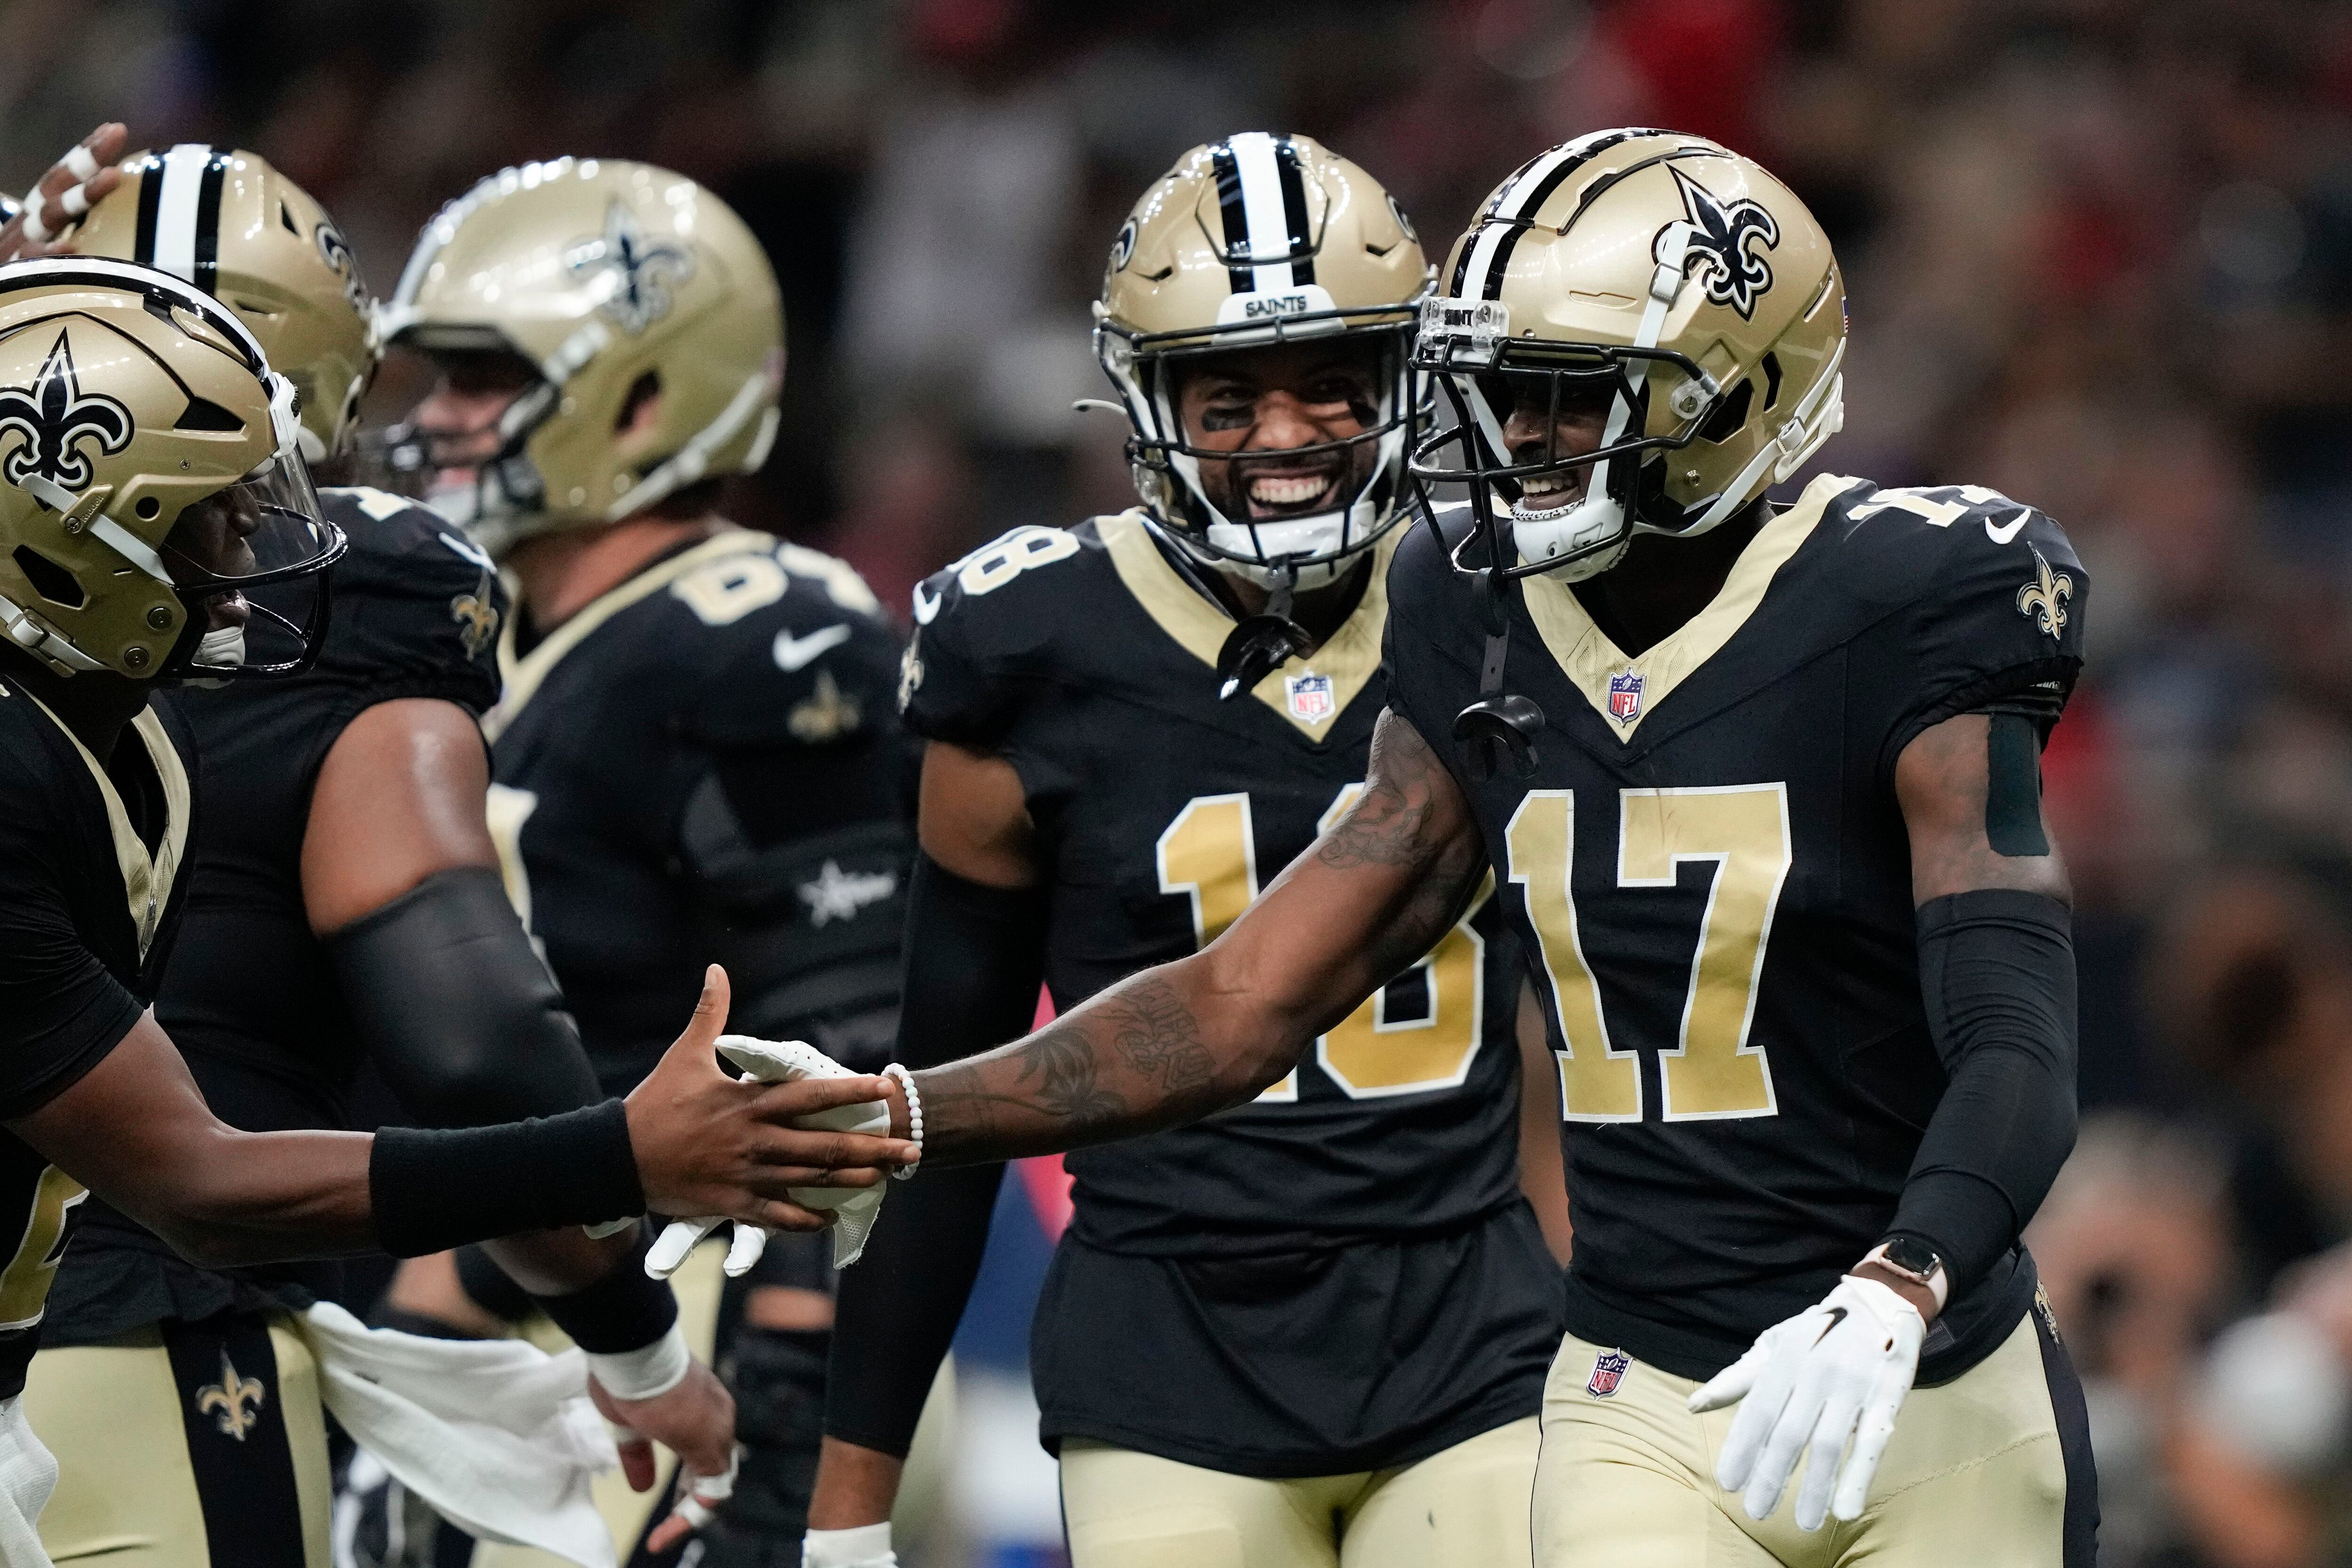
<path id="1" fill-rule="evenodd" d="M 727 964 L 739 1027 L 880 1067 L 910 858 L 896 635 L 847 564 L 715 510 L 776 440 L 757 240 L 666 169 L 508 169 L 426 226 L 383 329 L 440 371 L 386 451 L 520 583 L 492 820 L 607 1091 L 654 1065 L 694 954 Z M 823 1251 L 776 1246 L 739 1305 L 748 1455 L 706 1563 L 802 1528 Z"/>

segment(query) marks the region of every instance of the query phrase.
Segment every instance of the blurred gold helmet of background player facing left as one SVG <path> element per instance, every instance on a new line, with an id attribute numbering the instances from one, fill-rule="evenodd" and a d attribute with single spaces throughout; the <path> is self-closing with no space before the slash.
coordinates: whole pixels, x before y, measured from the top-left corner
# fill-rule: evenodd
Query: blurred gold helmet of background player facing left
<path id="1" fill-rule="evenodd" d="M 539 369 L 468 491 L 433 498 L 492 555 L 753 473 L 776 440 L 776 273 L 743 219 L 668 169 L 557 158 L 485 179 L 426 223 L 381 327 L 386 346 Z M 659 421 L 623 440 L 647 388 Z M 386 444 L 395 468 L 440 468 L 412 428 Z"/>

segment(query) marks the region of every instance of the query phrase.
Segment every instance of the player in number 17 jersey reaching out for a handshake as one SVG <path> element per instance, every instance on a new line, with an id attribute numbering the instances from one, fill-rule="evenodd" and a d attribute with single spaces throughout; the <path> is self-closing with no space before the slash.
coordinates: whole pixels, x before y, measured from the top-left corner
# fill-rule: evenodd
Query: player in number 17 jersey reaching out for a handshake
<path id="1" fill-rule="evenodd" d="M 1571 1121 L 1536 1561 L 2089 1563 L 2018 1244 L 2074 1138 L 2037 769 L 2082 562 L 1987 489 L 1764 498 L 1839 425 L 1844 282 L 1722 146 L 1543 153 L 1442 289 L 1416 465 L 1472 501 L 1397 550 L 1364 792 L 1223 938 L 915 1074 L 901 1126 L 974 1161 L 1249 1100 L 1494 875 Z"/>

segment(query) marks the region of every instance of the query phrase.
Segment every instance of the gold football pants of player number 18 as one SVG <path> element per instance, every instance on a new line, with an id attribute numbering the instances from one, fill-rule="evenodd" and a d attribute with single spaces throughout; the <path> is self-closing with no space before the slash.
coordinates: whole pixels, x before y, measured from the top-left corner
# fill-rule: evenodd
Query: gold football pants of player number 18
<path id="1" fill-rule="evenodd" d="M 1416 1465 L 1258 1481 L 1063 1439 L 1070 1568 L 1526 1568 L 1536 1418 Z"/>

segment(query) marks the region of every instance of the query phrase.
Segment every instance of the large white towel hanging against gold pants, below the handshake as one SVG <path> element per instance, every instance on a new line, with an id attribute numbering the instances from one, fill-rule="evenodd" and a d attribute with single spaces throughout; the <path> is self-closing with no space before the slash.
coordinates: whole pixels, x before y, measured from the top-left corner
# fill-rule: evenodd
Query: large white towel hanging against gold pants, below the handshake
<path id="1" fill-rule="evenodd" d="M 329 1302 L 294 1326 L 334 1418 L 442 1519 L 480 1540 L 614 1568 L 588 1486 L 621 1455 L 588 1401 L 581 1352 L 367 1328 Z"/>

